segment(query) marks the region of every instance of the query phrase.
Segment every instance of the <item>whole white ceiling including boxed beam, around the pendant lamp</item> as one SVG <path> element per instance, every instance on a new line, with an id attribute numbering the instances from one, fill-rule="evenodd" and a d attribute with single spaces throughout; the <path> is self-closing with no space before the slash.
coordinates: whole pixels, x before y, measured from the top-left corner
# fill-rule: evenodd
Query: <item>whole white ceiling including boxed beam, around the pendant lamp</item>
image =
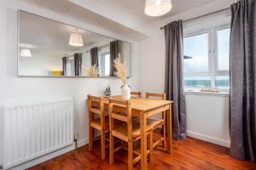
<path id="1" fill-rule="evenodd" d="M 155 23 L 161 20 L 168 20 L 173 15 L 191 11 L 193 8 L 212 7 L 213 3 L 215 6 L 218 6 L 218 9 L 226 8 L 224 4 L 231 0 L 172 0 L 171 12 L 160 17 L 149 17 L 144 14 L 146 0 L 19 1 L 40 8 L 43 7 L 71 19 L 82 21 L 85 25 L 90 24 L 90 28 L 96 26 L 102 31 L 109 31 L 110 34 L 108 35 L 112 35 L 111 37 L 121 35 L 134 40 L 143 40 L 151 36 L 151 26 L 154 26 Z M 228 5 L 230 5 L 230 3 Z M 34 13 L 33 10 L 32 13 Z M 196 9 L 195 13 L 199 14 L 200 12 Z M 90 28 L 88 29 L 91 30 Z M 100 30 L 96 32 L 102 32 Z M 91 31 L 95 31 L 94 28 Z"/>

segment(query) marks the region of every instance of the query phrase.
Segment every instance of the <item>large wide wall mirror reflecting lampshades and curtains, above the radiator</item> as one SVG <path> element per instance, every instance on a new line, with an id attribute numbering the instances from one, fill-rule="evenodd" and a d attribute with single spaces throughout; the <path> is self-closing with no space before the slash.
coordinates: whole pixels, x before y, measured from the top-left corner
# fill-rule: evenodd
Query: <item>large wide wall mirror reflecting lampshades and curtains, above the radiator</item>
<path id="1" fill-rule="evenodd" d="M 18 75 L 33 77 L 114 77 L 119 54 L 131 77 L 131 44 L 19 12 Z"/>

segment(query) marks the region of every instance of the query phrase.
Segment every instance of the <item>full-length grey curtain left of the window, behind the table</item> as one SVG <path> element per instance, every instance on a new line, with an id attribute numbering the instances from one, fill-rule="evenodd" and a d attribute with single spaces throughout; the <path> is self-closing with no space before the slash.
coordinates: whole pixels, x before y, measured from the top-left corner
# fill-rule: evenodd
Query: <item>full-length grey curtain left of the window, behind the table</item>
<path id="1" fill-rule="evenodd" d="M 165 26 L 166 78 L 165 93 L 173 100 L 173 139 L 186 139 L 186 106 L 183 90 L 183 21 L 174 21 Z"/>

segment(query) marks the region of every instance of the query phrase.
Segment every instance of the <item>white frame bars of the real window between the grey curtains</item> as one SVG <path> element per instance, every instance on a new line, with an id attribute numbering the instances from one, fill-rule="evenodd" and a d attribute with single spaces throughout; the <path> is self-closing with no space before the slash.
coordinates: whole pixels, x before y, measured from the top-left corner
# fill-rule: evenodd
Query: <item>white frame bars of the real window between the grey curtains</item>
<path id="1" fill-rule="evenodd" d="M 230 24 L 216 25 L 206 29 L 201 29 L 197 31 L 190 31 L 186 33 L 183 37 L 193 37 L 201 34 L 208 34 L 208 71 L 201 72 L 190 72 L 185 73 L 185 77 L 211 77 L 211 87 L 216 88 L 216 77 L 230 77 L 230 70 L 228 71 L 218 71 L 218 31 L 230 28 Z M 184 62 L 184 60 L 183 60 Z M 183 63 L 184 65 L 184 63 Z M 199 88 L 189 88 L 184 86 L 185 91 L 198 91 Z M 230 88 L 218 88 L 220 92 L 228 92 Z"/>

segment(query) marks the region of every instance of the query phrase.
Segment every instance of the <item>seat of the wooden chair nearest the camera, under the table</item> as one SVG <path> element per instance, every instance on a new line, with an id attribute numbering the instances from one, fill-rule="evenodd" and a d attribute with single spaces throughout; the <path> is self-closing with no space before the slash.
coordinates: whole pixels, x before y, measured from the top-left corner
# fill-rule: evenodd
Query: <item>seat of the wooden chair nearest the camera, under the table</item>
<path id="1" fill-rule="evenodd" d="M 148 119 L 147 121 L 147 133 L 153 129 L 156 126 L 159 126 L 161 120 L 154 120 L 154 119 Z M 122 137 L 122 139 L 125 139 L 125 141 L 128 141 L 128 132 L 127 132 L 127 123 L 123 122 L 120 124 L 116 124 L 113 126 L 112 130 L 113 136 L 116 136 L 119 138 L 119 136 Z M 139 139 L 141 135 L 141 129 L 140 129 L 140 122 L 138 119 L 133 119 L 132 121 L 132 138 L 133 139 Z"/>

